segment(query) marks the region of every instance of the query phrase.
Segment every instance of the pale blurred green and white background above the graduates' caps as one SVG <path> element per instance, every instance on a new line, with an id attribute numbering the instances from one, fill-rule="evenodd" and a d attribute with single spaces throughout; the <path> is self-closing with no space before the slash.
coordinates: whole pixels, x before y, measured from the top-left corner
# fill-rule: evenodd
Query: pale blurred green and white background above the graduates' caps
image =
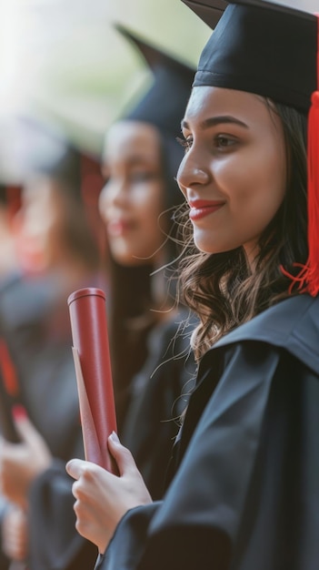
<path id="1" fill-rule="evenodd" d="M 105 129 L 150 80 L 115 22 L 194 66 L 210 33 L 181 0 L 0 0 L 0 147 L 10 117 L 32 114 L 100 151 Z"/>

